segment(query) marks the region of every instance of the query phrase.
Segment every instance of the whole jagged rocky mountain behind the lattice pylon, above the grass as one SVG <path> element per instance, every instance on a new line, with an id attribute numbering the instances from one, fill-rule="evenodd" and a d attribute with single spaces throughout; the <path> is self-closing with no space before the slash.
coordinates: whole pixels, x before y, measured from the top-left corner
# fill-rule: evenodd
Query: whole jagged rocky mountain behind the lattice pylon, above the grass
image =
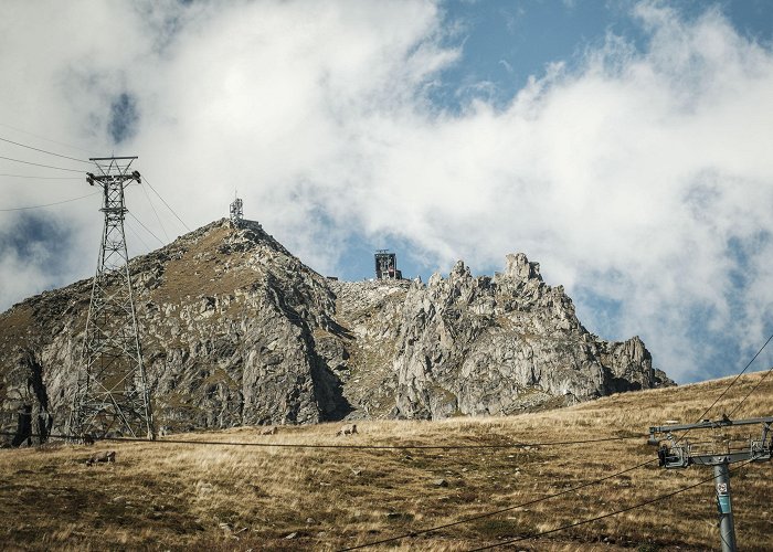
<path id="1" fill-rule="evenodd" d="M 504 273 L 333 282 L 260 224 L 223 220 L 131 261 L 158 425 L 179 432 L 345 417 L 509 414 L 671 384 L 638 338 L 608 342 L 562 287 Z M 64 429 L 91 280 L 0 315 L 0 424 Z M 9 439 L 7 439 L 9 440 Z"/>

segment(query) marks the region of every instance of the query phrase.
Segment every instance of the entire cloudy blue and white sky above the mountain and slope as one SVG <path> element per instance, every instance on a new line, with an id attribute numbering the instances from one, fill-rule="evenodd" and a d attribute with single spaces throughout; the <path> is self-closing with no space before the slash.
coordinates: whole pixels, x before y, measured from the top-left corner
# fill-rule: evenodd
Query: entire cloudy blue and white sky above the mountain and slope
<path id="1" fill-rule="evenodd" d="M 680 383 L 737 373 L 773 332 L 766 0 L 2 11 L 0 310 L 94 274 L 83 160 L 116 155 L 145 181 L 126 192 L 130 255 L 237 194 L 343 279 L 372 277 L 380 248 L 425 282 L 523 252 L 590 331 L 642 337 Z"/>

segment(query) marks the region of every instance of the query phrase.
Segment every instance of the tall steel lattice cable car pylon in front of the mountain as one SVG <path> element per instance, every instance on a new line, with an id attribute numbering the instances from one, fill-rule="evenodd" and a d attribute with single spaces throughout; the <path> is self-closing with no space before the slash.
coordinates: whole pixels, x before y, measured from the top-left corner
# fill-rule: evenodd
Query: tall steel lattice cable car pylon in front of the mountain
<path id="1" fill-rule="evenodd" d="M 70 433 L 78 438 L 155 437 L 124 233 L 124 191 L 140 182 L 139 172 L 129 172 L 135 159 L 93 158 L 99 174 L 86 179 L 103 189 L 105 226 L 70 418 Z"/>

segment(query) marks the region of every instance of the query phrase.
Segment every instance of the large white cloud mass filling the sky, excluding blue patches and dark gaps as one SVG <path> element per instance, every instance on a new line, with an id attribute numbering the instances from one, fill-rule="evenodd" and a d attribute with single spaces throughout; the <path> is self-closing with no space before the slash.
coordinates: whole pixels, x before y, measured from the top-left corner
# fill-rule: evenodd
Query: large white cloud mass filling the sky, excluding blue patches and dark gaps
<path id="1" fill-rule="evenodd" d="M 676 376 L 738 368 L 699 364 L 716 336 L 749 348 L 770 331 L 773 54 L 717 12 L 686 22 L 640 3 L 644 52 L 608 36 L 504 108 L 455 113 L 430 99 L 459 56 L 431 2 L 12 6 L 0 121 L 109 152 L 110 102 L 133 94 L 139 127 L 116 152 L 138 153 L 190 224 L 225 215 L 237 188 L 248 217 L 324 272 L 351 235 L 404 237 L 432 264 L 478 270 L 525 251 L 592 330 L 642 335 Z M 41 192 L 3 184 L 0 198 Z M 70 223 L 96 236 L 98 213 Z M 97 238 L 78 235 L 91 253 Z M 0 304 L 91 272 L 3 285 Z M 592 297 L 620 301 L 614 327 Z"/>

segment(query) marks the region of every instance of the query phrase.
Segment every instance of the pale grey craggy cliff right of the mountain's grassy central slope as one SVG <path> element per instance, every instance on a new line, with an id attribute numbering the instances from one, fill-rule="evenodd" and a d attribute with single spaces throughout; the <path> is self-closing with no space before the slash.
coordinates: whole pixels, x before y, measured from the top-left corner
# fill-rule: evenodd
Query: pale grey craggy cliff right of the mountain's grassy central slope
<path id="1" fill-rule="evenodd" d="M 600 340 L 539 264 L 508 255 L 506 270 L 474 278 L 458 263 L 405 299 L 396 408 L 406 417 L 511 414 L 673 383 L 638 338 Z"/>

